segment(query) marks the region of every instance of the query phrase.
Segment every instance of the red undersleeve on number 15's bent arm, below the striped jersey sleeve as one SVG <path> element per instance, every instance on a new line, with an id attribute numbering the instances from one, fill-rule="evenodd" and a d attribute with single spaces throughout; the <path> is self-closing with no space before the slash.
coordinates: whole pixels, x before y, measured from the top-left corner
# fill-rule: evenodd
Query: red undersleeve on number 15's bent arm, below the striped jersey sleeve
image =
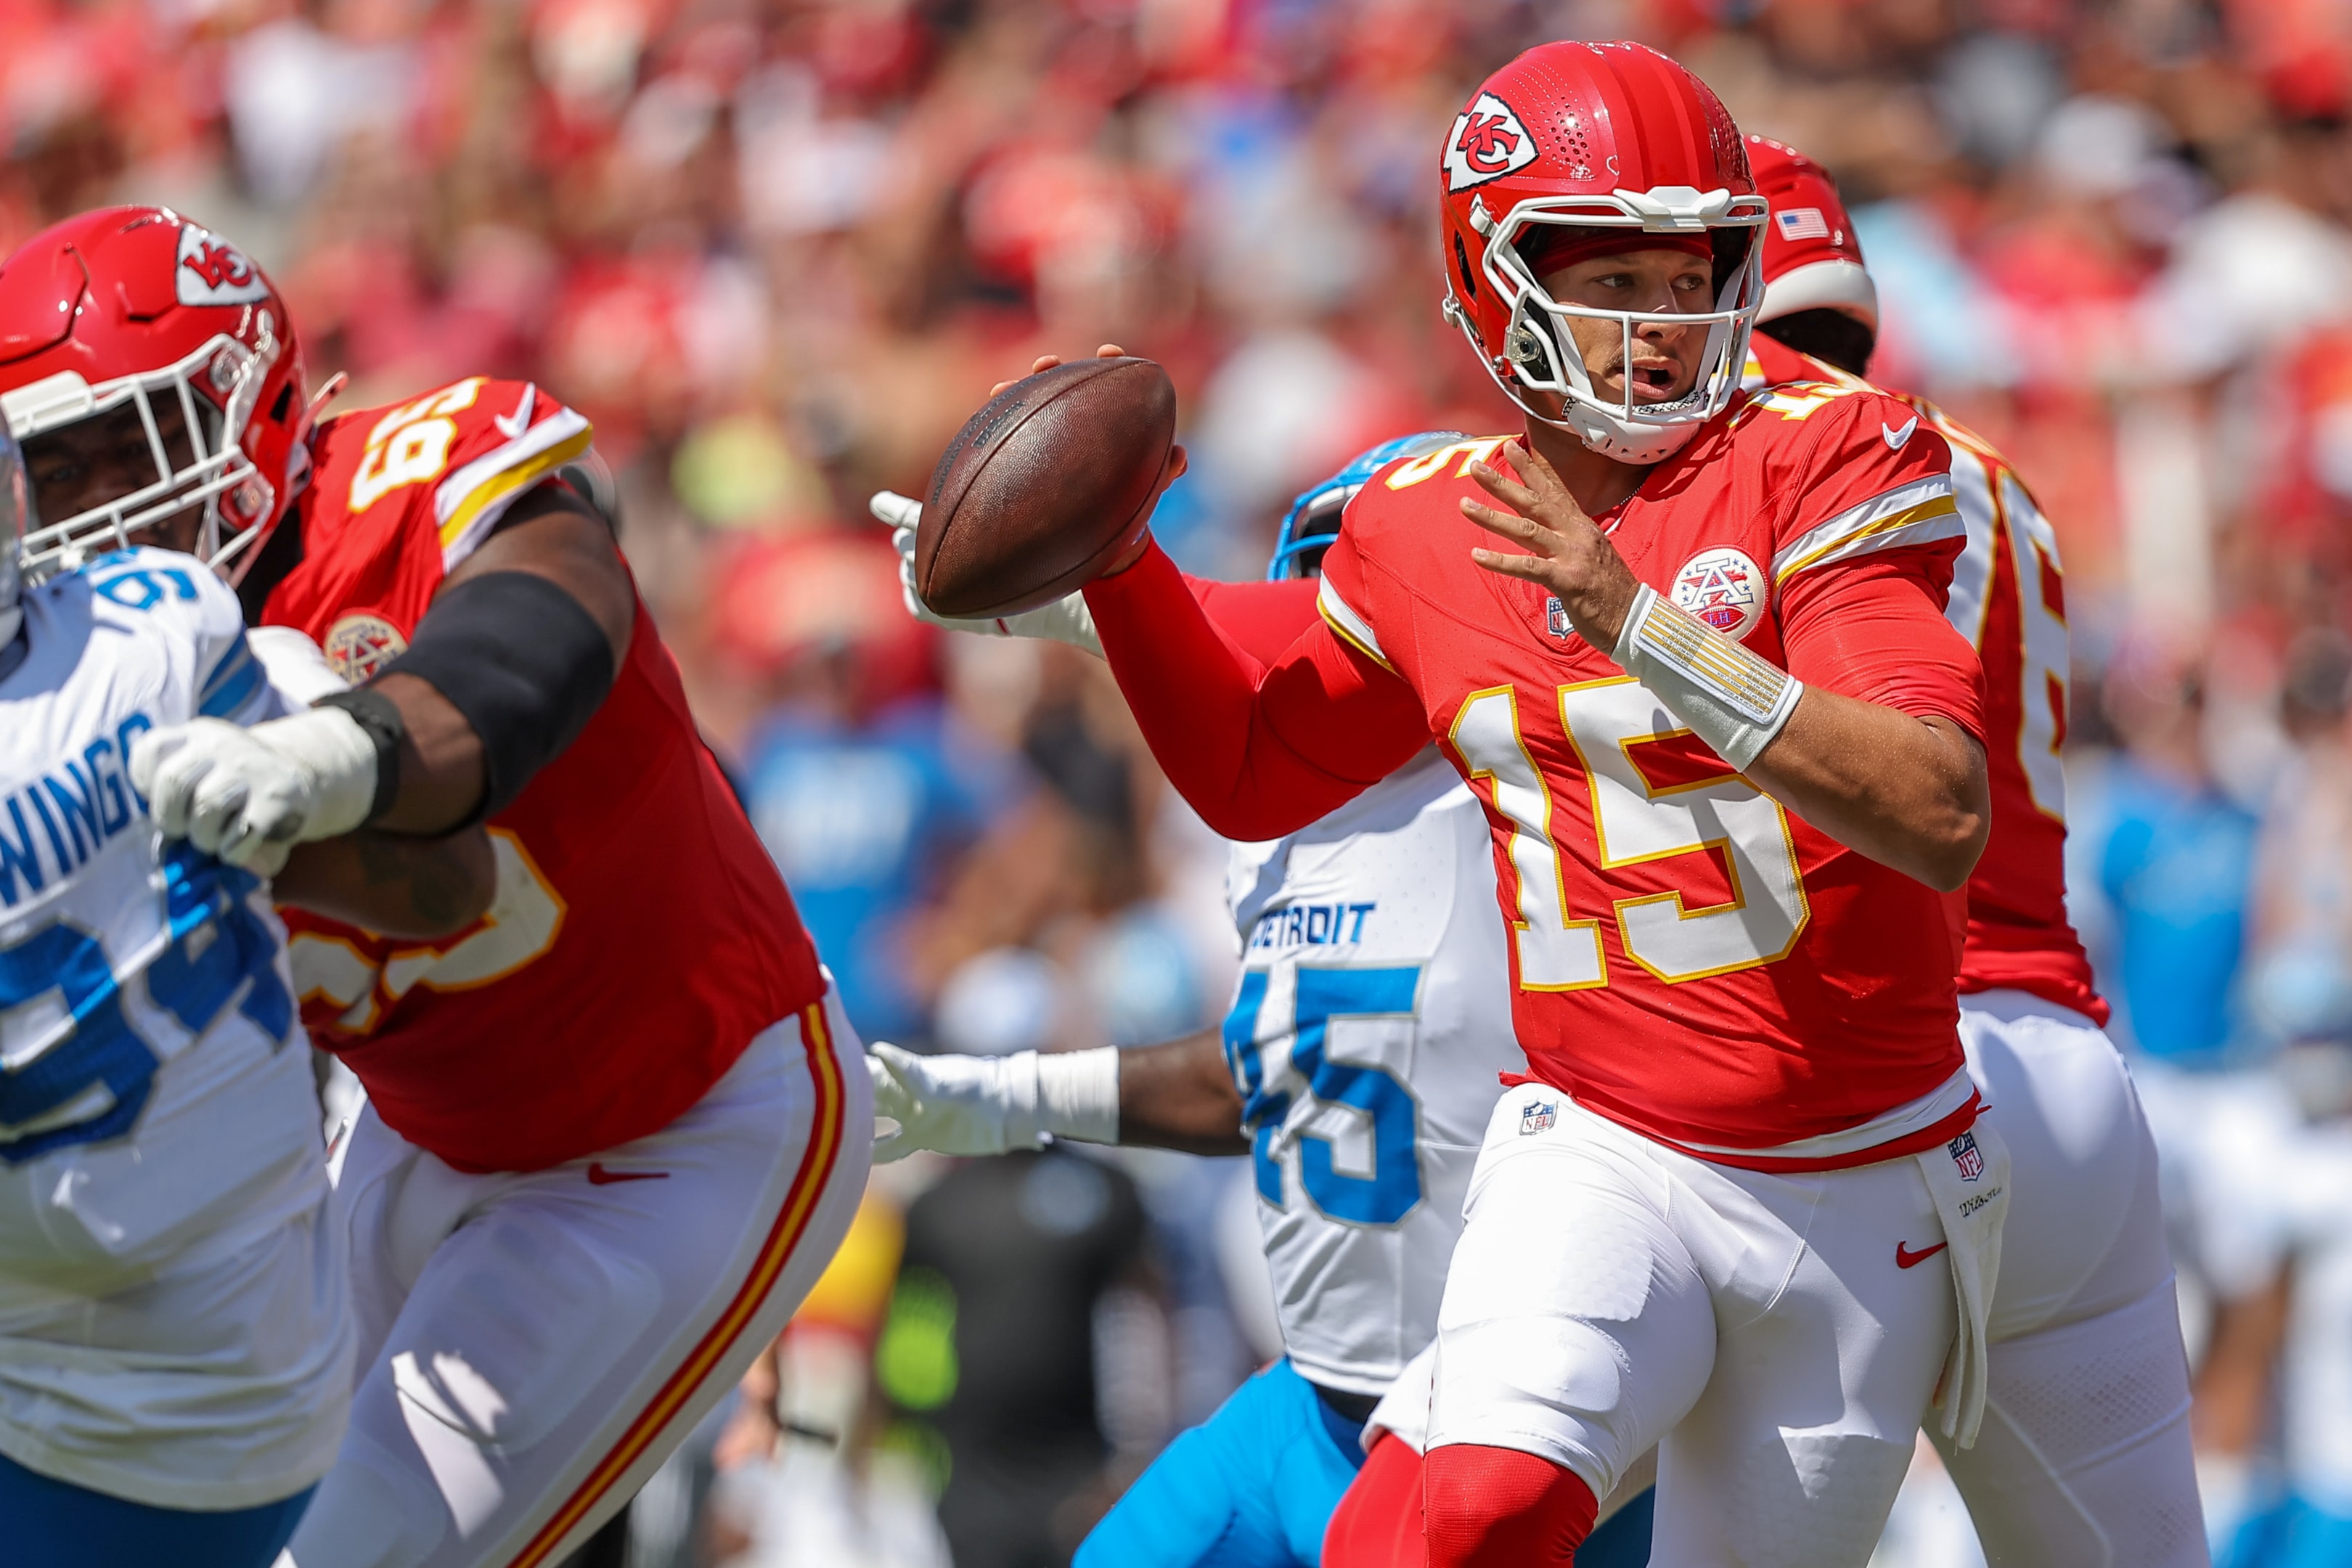
<path id="1" fill-rule="evenodd" d="M 1943 618 L 1959 543 L 1882 550 L 1790 583 L 1780 602 L 1788 672 L 1900 712 L 1943 715 L 1985 741 L 1976 649 Z"/>

